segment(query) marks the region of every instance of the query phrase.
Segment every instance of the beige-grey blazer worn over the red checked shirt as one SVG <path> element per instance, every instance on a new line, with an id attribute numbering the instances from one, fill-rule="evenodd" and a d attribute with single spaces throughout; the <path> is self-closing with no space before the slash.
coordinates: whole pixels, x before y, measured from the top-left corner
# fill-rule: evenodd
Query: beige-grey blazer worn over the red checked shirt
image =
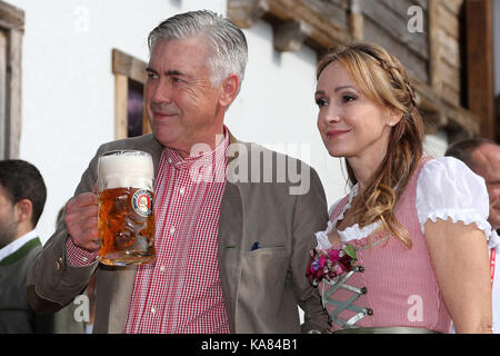
<path id="1" fill-rule="evenodd" d="M 271 152 L 253 144 L 238 142 L 232 136 L 230 144 L 242 145 L 251 152 Z M 74 195 L 92 189 L 97 181 L 98 157 L 102 152 L 124 148 L 150 152 L 158 174 L 163 147 L 152 135 L 109 142 L 102 145 L 90 161 Z M 248 168 L 251 156 L 229 157 L 229 164 L 231 168 Z M 284 156 L 276 152 L 272 156 L 276 169 L 277 159 Z M 290 195 L 289 188 L 293 186 L 290 181 L 234 181 L 234 175 L 229 171 L 228 166 L 218 258 L 231 333 L 300 333 L 297 305 L 304 310 L 302 332 L 326 330 L 328 315 L 318 291 L 306 277 L 309 250 L 316 245 L 314 233 L 324 229 L 328 220 L 324 191 L 318 175 L 310 169 L 307 194 Z M 251 169 L 248 174 L 252 174 Z M 108 267 L 97 261 L 88 267 L 70 266 L 66 259 L 67 238 L 68 231 L 61 219 L 31 265 L 27 290 L 32 308 L 37 312 L 60 309 L 86 288 L 97 271 L 93 330 L 122 333 L 137 267 Z M 254 241 L 260 243 L 260 249 L 251 250 Z"/>

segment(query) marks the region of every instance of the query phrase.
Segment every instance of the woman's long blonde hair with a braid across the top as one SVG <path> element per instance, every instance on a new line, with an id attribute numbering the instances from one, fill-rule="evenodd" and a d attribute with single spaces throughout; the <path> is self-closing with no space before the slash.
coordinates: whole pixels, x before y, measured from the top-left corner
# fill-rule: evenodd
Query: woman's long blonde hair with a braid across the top
<path id="1" fill-rule="evenodd" d="M 417 109 L 413 87 L 401 62 L 373 43 L 352 43 L 330 49 L 318 65 L 317 78 L 330 63 L 339 61 L 361 91 L 373 102 L 396 108 L 401 120 L 391 128 L 384 159 L 352 206 L 360 226 L 377 220 L 411 248 L 411 239 L 394 216 L 394 209 L 423 152 L 423 122 Z M 358 180 L 346 160 L 349 181 Z"/>

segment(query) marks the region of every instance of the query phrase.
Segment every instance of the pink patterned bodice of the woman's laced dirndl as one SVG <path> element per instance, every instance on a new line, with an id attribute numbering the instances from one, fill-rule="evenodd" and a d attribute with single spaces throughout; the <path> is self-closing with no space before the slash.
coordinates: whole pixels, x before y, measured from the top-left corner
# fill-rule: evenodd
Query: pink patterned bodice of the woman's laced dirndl
<path id="1" fill-rule="evenodd" d="M 347 281 L 348 285 L 359 289 L 366 287 L 366 294 L 362 294 L 353 305 L 372 310 L 372 315 L 366 315 L 356 323 L 356 326 L 407 326 L 423 327 L 440 333 L 450 332 L 451 317 L 438 288 L 416 209 L 417 179 L 427 161 L 422 159 L 396 208 L 397 219 L 411 237 L 411 249 L 393 236 L 388 238 L 387 233 L 374 233 L 376 236 L 348 243 L 357 249 L 356 265 L 364 267 L 362 273 L 354 273 Z M 348 198 L 344 197 L 336 206 L 330 220 L 340 215 Z M 369 239 L 371 246 L 369 246 Z M 320 293 L 322 287 L 321 284 Z M 339 289 L 332 298 L 343 301 L 352 296 L 352 291 Z M 330 315 L 336 309 L 328 304 L 326 307 Z M 354 315 L 354 312 L 343 310 L 338 317 L 348 320 Z M 339 324 L 332 322 L 332 330 L 339 328 Z"/>

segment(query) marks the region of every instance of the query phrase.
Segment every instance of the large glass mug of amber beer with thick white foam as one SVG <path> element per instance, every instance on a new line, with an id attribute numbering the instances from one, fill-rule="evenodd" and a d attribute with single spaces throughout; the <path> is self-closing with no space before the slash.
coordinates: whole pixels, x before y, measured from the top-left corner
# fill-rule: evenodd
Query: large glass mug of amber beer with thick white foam
<path id="1" fill-rule="evenodd" d="M 154 169 L 138 150 L 103 154 L 98 162 L 99 260 L 109 266 L 154 260 Z"/>

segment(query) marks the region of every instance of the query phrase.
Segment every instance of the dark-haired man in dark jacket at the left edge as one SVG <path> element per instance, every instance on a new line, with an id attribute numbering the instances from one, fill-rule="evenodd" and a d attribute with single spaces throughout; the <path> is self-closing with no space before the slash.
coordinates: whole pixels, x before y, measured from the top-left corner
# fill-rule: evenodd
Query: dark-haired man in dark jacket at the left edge
<path id="1" fill-rule="evenodd" d="M 78 333 L 71 307 L 39 315 L 29 306 L 26 276 L 41 243 L 34 227 L 47 189 L 39 170 L 24 160 L 0 161 L 0 334 Z"/>

